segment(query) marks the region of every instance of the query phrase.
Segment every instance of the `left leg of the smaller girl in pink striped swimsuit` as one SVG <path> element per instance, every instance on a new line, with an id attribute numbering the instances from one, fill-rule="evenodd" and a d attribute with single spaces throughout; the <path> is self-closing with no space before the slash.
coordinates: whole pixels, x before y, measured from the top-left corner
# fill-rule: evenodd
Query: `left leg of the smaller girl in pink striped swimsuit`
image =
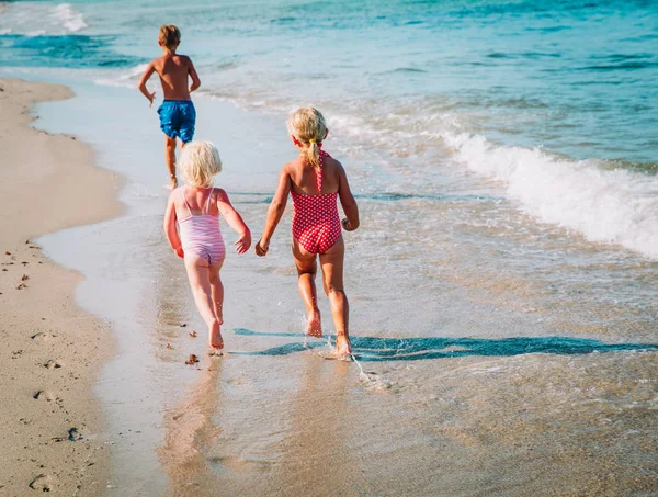
<path id="1" fill-rule="evenodd" d="M 185 255 L 185 269 L 188 270 L 188 279 L 190 280 L 196 308 L 208 327 L 209 344 L 214 349 L 223 349 L 224 340 L 219 329 L 219 319 L 217 319 L 213 303 L 211 264 L 203 257 Z"/>

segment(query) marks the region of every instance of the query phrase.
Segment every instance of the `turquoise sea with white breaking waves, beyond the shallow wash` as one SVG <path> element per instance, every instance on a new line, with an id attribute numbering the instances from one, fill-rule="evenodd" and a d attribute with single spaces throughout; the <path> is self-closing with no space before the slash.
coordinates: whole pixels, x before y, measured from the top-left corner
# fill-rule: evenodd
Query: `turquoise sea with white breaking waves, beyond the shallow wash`
<path id="1" fill-rule="evenodd" d="M 365 189 L 475 171 L 540 222 L 658 256 L 656 2 L 9 2 L 0 66 L 133 87 L 168 22 L 200 95 L 316 104 Z"/>

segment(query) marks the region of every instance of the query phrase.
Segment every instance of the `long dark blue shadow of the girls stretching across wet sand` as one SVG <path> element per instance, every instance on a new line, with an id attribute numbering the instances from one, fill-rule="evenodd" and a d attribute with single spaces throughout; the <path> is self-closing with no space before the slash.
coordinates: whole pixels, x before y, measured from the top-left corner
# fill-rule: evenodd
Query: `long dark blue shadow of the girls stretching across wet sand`
<path id="1" fill-rule="evenodd" d="M 246 328 L 234 329 L 239 336 L 302 338 L 303 334 L 269 334 Z M 485 338 L 374 338 L 351 337 L 354 357 L 363 362 L 420 361 L 464 355 L 520 355 L 555 353 L 559 355 L 623 350 L 658 350 L 658 343 L 604 343 L 569 337 L 517 337 L 499 340 Z M 247 355 L 287 355 L 307 349 L 327 347 L 326 341 L 293 342 L 262 351 L 235 352 Z"/>

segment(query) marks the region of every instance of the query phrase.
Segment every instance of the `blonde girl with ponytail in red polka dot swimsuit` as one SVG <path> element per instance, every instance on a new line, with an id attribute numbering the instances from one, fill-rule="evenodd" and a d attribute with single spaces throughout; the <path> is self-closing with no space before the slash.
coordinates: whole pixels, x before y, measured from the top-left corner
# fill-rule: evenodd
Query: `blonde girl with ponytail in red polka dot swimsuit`
<path id="1" fill-rule="evenodd" d="M 306 332 L 314 337 L 322 336 L 315 286 L 319 257 L 325 292 L 336 326 L 336 352 L 347 358 L 352 350 L 348 330 L 349 304 L 343 290 L 345 246 L 341 225 L 348 231 L 356 229 L 359 207 L 343 167 L 322 150 L 322 140 L 329 134 L 325 116 L 314 108 L 298 109 L 291 114 L 287 127 L 299 157 L 286 163 L 279 173 L 276 193 L 268 211 L 263 235 L 256 245 L 256 253 L 261 257 L 268 253 L 270 239 L 285 211 L 288 193 L 292 194 L 293 257 L 299 276 L 299 294 L 308 316 Z M 342 222 L 337 199 L 340 199 L 345 213 Z"/>

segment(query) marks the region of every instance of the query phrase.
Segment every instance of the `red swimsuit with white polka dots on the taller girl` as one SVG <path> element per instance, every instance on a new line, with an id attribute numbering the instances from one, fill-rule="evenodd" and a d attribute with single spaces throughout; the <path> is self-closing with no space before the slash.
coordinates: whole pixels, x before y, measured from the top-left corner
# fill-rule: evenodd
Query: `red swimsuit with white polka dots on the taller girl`
<path id="1" fill-rule="evenodd" d="M 322 191 L 322 159 L 331 157 L 320 150 L 320 167 L 317 171 L 318 192 Z M 292 192 L 293 195 L 293 236 L 307 251 L 325 253 L 341 235 L 340 217 L 336 193 L 305 195 Z"/>

